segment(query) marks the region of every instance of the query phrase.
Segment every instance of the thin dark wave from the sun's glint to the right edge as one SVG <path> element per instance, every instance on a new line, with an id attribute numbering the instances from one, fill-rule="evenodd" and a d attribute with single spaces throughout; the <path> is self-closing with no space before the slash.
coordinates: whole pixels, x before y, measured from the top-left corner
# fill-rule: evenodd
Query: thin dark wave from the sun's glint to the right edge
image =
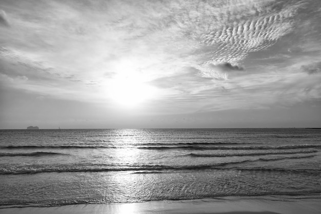
<path id="1" fill-rule="evenodd" d="M 298 148 L 321 148 L 318 144 L 301 144 L 301 145 L 282 145 L 282 146 L 148 146 L 138 147 L 139 149 L 189 149 L 189 150 L 267 150 L 267 149 L 298 149 Z"/>

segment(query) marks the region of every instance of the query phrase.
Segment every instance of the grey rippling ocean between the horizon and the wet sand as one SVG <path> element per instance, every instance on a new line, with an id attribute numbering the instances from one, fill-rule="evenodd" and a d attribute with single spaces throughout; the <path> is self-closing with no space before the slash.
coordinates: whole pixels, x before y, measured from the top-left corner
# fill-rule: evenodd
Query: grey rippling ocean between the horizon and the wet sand
<path id="1" fill-rule="evenodd" d="M 0 208 L 321 198 L 321 129 L 0 130 Z"/>

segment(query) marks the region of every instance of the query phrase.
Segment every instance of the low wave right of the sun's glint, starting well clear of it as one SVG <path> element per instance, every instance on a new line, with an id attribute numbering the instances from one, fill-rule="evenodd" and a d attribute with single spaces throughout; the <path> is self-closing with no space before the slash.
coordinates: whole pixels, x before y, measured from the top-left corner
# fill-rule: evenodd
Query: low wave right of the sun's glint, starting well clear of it
<path id="1" fill-rule="evenodd" d="M 184 156 L 191 157 L 233 157 L 233 156 L 256 156 L 256 155 L 268 155 L 268 154 L 306 154 L 306 153 L 315 153 L 317 150 L 310 151 L 281 151 L 281 152 L 255 152 L 255 153 L 231 153 L 231 154 L 197 154 L 189 153 Z"/>

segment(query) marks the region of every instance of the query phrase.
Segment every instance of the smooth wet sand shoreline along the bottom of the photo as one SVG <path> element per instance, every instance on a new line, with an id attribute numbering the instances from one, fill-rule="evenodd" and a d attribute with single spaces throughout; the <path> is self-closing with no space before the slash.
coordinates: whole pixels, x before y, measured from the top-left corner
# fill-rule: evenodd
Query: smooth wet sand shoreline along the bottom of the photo
<path id="1" fill-rule="evenodd" d="M 2 214 L 22 213 L 199 213 L 199 214 L 317 214 L 321 210 L 321 196 L 299 197 L 222 197 L 217 199 L 148 201 L 119 204 L 77 204 L 51 207 L 1 208 Z"/>

